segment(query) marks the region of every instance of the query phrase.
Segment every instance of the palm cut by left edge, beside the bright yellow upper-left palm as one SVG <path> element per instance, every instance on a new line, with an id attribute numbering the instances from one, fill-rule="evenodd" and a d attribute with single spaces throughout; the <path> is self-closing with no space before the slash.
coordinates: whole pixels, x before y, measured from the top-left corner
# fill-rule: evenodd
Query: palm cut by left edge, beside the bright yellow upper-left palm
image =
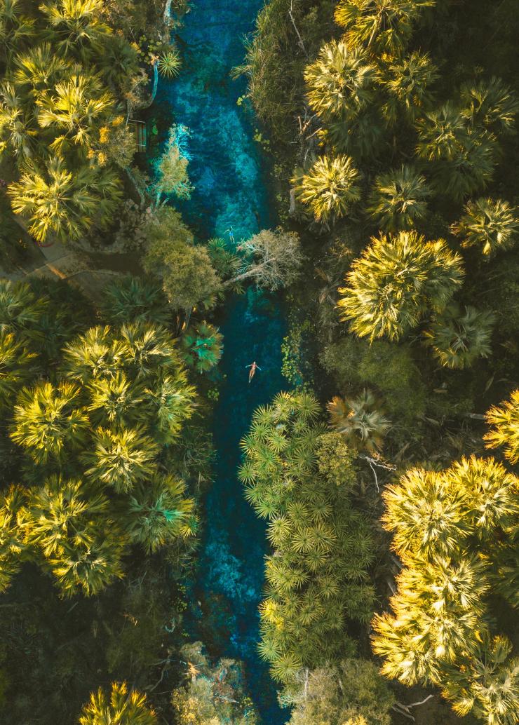
<path id="1" fill-rule="evenodd" d="M 4 152 L 20 164 L 43 152 L 34 117 L 16 86 L 7 80 L 0 84 L 0 155 Z"/>

